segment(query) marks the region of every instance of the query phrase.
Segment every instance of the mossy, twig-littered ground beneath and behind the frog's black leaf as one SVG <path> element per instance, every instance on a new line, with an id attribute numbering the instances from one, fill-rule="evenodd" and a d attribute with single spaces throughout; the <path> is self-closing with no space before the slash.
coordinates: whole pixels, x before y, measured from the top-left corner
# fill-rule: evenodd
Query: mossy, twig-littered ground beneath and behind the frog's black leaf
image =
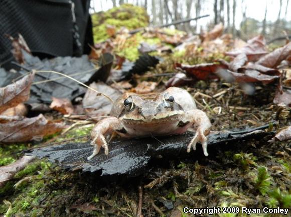
<path id="1" fill-rule="evenodd" d="M 163 65 L 156 68 L 161 67 Z M 276 106 L 273 106 L 273 91 L 268 87 L 258 90 L 257 96 L 245 96 L 235 84 L 223 82 L 200 81 L 193 87 L 195 90 L 188 88 L 193 95 L 197 92 L 214 95 L 227 90 L 224 101 L 228 102 L 228 106 L 247 108 L 230 109 L 213 98 L 196 97 L 199 103 L 203 104 L 204 98 L 209 105 L 210 109 L 199 107 L 199 104 L 198 107 L 204 109 L 211 118 L 213 130 L 255 127 L 268 124 L 275 118 L 280 121 L 279 127 L 289 124 L 286 115 L 278 113 Z M 218 105 L 222 107 L 220 114 L 213 111 L 214 106 Z M 55 141 L 86 135 L 90 130 L 91 127 L 76 128 Z M 86 139 L 83 138 L 83 141 Z M 159 216 L 162 213 L 170 216 L 174 211 L 180 212 L 184 206 L 290 207 L 290 144 L 269 143 L 268 140 L 210 146 L 210 156 L 207 158 L 170 162 L 157 160 L 152 163 L 151 171 L 130 179 L 100 179 L 96 174 L 68 172 L 46 160 L 36 160 L 0 190 L 0 213 L 8 210 L 9 206 L 3 203 L 3 200 L 7 200 L 11 202 L 8 216 L 135 216 L 139 185 L 152 187 L 144 188 L 144 216 Z M 34 145 L 2 146 L 1 162 L 12 162 L 21 155 L 19 151 Z M 173 208 L 169 210 L 167 207 L 171 206 Z"/>

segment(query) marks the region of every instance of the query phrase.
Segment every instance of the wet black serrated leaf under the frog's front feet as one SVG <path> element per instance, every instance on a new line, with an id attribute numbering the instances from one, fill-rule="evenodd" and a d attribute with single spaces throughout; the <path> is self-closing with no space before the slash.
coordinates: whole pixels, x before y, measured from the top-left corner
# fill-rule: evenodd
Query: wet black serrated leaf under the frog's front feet
<path id="1" fill-rule="evenodd" d="M 230 141 L 238 141 L 249 138 L 261 139 L 266 135 L 274 135 L 274 132 L 265 132 L 259 128 L 230 132 L 210 134 L 209 137 L 209 157 L 215 156 L 215 145 Z M 109 145 L 109 154 L 105 155 L 101 151 L 92 160 L 87 157 L 91 155 L 93 147 L 90 142 L 67 143 L 58 146 L 49 146 L 25 151 L 26 155 L 40 158 L 48 157 L 52 162 L 57 162 L 64 168 L 82 169 L 89 172 L 101 172 L 104 175 L 137 176 L 141 174 L 151 159 L 157 157 L 178 158 L 178 157 L 204 157 L 201 145 L 197 145 L 196 151 L 186 152 L 187 145 L 193 138 L 193 133 L 187 132 L 183 135 L 155 138 L 142 138 L 123 140 Z"/>

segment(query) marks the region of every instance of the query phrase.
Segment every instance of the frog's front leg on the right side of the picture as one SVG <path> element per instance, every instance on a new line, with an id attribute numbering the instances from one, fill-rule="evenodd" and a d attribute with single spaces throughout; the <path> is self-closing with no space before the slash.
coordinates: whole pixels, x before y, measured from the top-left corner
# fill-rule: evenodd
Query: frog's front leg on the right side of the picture
<path id="1" fill-rule="evenodd" d="M 200 141 L 202 144 L 204 155 L 208 156 L 207 142 L 208 142 L 208 135 L 210 133 L 210 128 L 211 128 L 211 123 L 210 123 L 209 118 L 207 117 L 205 112 L 195 109 L 195 110 L 189 110 L 186 112 L 184 121 L 187 121 L 187 120 L 193 123 L 193 125 L 197 126 L 196 133 L 187 147 L 187 152 L 189 153 L 191 151 L 191 147 L 193 147 L 193 150 L 196 150 L 196 143 Z"/>

